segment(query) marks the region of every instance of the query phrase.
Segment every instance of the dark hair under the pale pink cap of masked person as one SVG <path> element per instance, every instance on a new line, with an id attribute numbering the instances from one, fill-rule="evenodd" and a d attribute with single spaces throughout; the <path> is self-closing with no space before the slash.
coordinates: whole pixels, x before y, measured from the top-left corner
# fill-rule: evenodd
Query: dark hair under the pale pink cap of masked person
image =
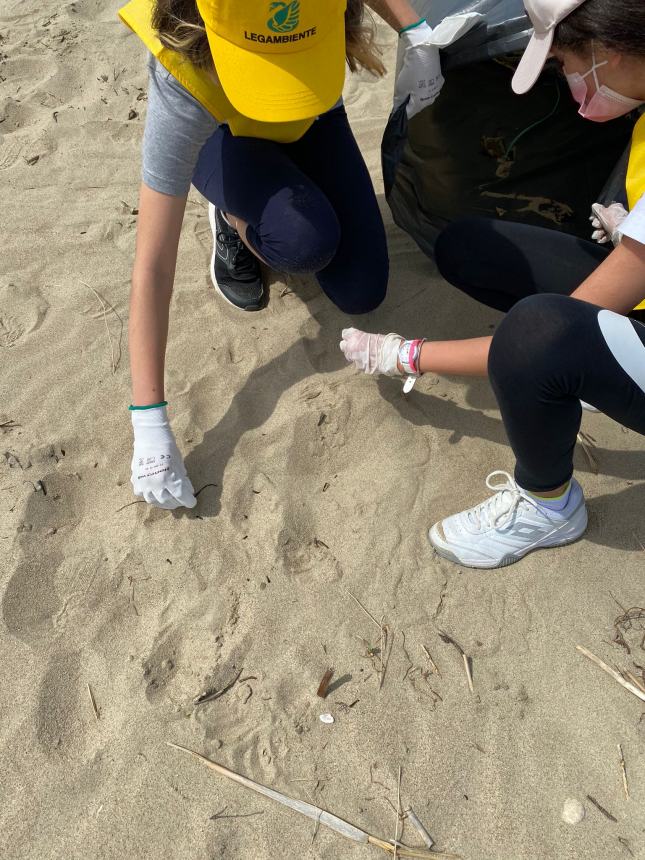
<path id="1" fill-rule="evenodd" d="M 558 25 L 553 46 L 586 56 L 592 42 L 645 57 L 645 0 L 586 0 Z"/>

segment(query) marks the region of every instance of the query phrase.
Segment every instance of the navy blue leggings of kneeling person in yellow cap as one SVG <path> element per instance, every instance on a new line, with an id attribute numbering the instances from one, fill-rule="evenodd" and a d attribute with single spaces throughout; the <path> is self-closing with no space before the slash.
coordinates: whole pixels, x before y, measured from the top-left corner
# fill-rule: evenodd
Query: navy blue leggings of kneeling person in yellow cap
<path id="1" fill-rule="evenodd" d="M 202 148 L 193 185 L 248 223 L 247 241 L 271 268 L 315 272 L 345 313 L 366 313 L 385 298 L 385 228 L 343 107 L 290 144 L 234 137 L 220 126 Z"/>

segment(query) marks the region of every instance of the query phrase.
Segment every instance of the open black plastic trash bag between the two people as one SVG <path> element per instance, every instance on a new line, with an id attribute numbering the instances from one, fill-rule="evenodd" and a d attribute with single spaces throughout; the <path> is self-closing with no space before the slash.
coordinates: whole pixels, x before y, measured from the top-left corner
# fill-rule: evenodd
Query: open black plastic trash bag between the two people
<path id="1" fill-rule="evenodd" d="M 521 0 L 443 5 L 446 14 L 475 9 L 488 17 L 442 52 L 446 83 L 434 105 L 409 122 L 404 109 L 390 117 L 382 161 L 394 220 L 430 256 L 443 227 L 473 215 L 589 239 L 591 204 L 604 200 L 610 177 L 620 186 L 635 117 L 583 119 L 553 66 L 529 93 L 513 93 L 530 22 L 523 14 L 500 18 L 500 9 L 523 10 Z"/>

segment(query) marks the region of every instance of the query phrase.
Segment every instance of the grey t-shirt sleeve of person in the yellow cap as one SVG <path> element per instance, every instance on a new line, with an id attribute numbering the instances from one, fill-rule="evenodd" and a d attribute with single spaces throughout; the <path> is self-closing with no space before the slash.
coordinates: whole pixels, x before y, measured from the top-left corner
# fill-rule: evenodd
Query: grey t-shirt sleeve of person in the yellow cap
<path id="1" fill-rule="evenodd" d="M 218 122 L 152 54 L 148 71 L 143 181 L 154 191 L 184 197 L 199 153 Z M 342 103 L 341 98 L 334 107 Z"/>

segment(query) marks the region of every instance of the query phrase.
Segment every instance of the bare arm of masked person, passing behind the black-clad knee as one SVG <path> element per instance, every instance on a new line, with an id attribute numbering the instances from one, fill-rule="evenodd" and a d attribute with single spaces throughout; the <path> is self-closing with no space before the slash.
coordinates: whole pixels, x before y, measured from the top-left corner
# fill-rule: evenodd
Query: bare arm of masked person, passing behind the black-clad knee
<path id="1" fill-rule="evenodd" d="M 623 237 L 620 245 L 580 284 L 572 298 L 628 314 L 645 298 L 645 244 Z M 420 370 L 442 376 L 486 376 L 491 340 L 490 337 L 475 337 L 424 343 L 419 357 Z"/>

